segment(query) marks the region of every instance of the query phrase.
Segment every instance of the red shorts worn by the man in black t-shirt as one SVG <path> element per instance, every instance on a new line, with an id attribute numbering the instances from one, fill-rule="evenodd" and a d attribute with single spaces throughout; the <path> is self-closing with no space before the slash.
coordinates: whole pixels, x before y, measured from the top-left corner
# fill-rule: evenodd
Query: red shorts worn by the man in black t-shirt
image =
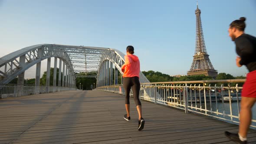
<path id="1" fill-rule="evenodd" d="M 256 98 L 256 70 L 246 75 L 246 81 L 243 84 L 243 97 Z"/>

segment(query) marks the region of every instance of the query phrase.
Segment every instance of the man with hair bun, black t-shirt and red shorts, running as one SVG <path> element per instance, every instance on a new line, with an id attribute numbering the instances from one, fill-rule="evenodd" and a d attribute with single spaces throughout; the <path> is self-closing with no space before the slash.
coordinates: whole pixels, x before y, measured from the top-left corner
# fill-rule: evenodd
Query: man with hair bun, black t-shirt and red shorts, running
<path id="1" fill-rule="evenodd" d="M 229 27 L 229 36 L 236 44 L 236 65 L 246 65 L 249 73 L 243 84 L 242 99 L 240 102 L 239 132 L 234 134 L 225 131 L 226 137 L 237 144 L 247 143 L 247 131 L 252 121 L 252 107 L 256 102 L 256 37 L 244 33 L 245 17 L 234 20 Z"/>

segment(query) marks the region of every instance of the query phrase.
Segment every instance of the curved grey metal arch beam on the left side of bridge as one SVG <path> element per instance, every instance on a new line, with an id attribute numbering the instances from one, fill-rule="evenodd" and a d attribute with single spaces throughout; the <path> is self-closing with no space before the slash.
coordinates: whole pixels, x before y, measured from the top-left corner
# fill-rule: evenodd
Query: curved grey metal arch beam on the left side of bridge
<path id="1" fill-rule="evenodd" d="M 39 52 L 41 51 L 41 52 Z M 41 55 L 39 54 L 41 53 Z M 26 58 L 25 64 L 19 62 L 19 57 L 24 56 Z M 40 56 L 39 56 L 40 55 Z M 3 56 L 0 59 L 0 68 L 5 66 L 5 70 L 0 71 L 0 84 L 7 84 L 13 80 L 16 76 L 25 72 L 31 66 L 35 65 L 38 62 L 48 59 L 50 57 L 58 57 L 62 59 L 74 75 L 73 67 L 69 55 L 65 51 L 56 51 L 51 45 L 35 45 L 29 46 L 24 49 L 20 49 L 16 52 L 12 52 L 7 56 Z M 10 66 L 10 69 L 7 70 L 7 65 Z M 14 67 L 14 69 L 13 69 Z"/>

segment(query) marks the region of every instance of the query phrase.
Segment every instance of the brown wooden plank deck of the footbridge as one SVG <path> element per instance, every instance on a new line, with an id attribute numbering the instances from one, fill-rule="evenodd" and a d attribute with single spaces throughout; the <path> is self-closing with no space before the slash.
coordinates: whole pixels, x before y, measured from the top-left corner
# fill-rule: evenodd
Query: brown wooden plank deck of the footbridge
<path id="1" fill-rule="evenodd" d="M 238 126 L 193 113 L 142 102 L 145 126 L 131 98 L 125 121 L 124 96 L 102 91 L 69 91 L 0 99 L 0 144 L 233 144 L 223 131 Z M 250 130 L 249 144 L 256 144 Z"/>

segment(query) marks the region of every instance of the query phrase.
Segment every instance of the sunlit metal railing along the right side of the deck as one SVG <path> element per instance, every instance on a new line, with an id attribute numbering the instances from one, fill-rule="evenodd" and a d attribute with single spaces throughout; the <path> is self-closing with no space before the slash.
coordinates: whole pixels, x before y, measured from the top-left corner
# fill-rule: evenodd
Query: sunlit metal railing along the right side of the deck
<path id="1" fill-rule="evenodd" d="M 239 123 L 242 85 L 245 79 L 142 83 L 140 98 L 213 118 Z M 96 88 L 124 95 L 122 85 Z M 132 92 L 130 92 L 132 96 Z M 256 107 L 254 108 L 256 109 Z M 256 128 L 256 115 L 251 127 Z"/>

